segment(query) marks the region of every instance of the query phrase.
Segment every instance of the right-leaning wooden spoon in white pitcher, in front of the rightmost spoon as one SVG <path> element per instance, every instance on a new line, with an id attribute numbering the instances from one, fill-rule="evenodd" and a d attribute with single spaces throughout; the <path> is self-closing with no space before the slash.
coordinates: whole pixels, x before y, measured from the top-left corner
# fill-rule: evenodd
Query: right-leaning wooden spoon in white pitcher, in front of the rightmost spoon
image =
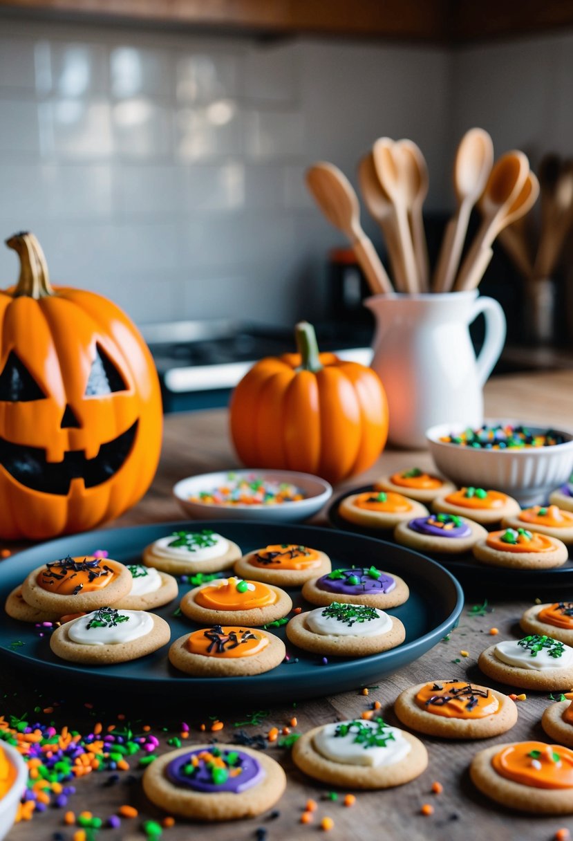
<path id="1" fill-rule="evenodd" d="M 456 292 L 467 288 L 468 278 L 471 277 L 474 263 L 480 252 L 483 249 L 490 248 L 500 230 L 517 219 L 517 215 L 513 215 L 513 219 L 506 221 L 512 215 L 510 210 L 513 209 L 514 202 L 520 196 L 528 173 L 529 161 L 523 155 L 523 152 L 506 152 L 496 161 L 479 202 L 482 216 L 481 225 L 460 267 L 454 286 Z M 535 184 L 539 189 L 537 178 L 535 178 Z M 534 191 L 533 182 L 529 192 L 532 191 Z M 534 196 L 534 200 L 535 198 L 537 198 L 537 194 Z M 525 201 L 525 198 L 523 200 Z M 518 215 L 522 216 L 523 213 Z"/>

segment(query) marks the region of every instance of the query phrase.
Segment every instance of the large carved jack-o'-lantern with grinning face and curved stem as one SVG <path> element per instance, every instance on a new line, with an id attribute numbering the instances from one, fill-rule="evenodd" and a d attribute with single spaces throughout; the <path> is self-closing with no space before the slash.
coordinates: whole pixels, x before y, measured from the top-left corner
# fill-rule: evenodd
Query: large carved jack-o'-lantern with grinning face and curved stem
<path id="1" fill-rule="evenodd" d="M 0 292 L 0 536 L 53 537 L 118 516 L 159 461 L 161 398 L 134 324 L 108 299 L 52 287 L 39 242 Z"/>

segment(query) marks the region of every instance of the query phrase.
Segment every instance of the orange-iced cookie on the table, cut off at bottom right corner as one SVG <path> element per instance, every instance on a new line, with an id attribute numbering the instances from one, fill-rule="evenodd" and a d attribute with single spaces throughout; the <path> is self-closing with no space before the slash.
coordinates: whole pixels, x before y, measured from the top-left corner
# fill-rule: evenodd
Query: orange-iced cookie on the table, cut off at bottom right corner
<path id="1" fill-rule="evenodd" d="M 510 809 L 573 814 L 573 751 L 560 744 L 493 745 L 471 760 L 470 777 L 483 794 Z"/>

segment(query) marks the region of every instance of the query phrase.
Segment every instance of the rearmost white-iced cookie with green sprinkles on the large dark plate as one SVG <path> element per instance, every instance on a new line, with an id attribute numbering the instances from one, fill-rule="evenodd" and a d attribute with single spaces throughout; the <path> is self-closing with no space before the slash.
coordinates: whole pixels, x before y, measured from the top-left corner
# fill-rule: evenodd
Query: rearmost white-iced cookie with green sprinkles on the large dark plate
<path id="1" fill-rule="evenodd" d="M 165 573 L 193 575 L 229 569 L 242 554 L 236 543 L 212 529 L 181 529 L 150 543 L 143 559 L 146 566 Z"/>

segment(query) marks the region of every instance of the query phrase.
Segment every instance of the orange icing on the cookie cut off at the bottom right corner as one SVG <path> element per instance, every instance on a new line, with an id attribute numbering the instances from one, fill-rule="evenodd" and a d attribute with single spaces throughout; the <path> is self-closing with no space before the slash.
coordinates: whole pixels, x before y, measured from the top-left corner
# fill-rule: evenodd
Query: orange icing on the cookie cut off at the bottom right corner
<path id="1" fill-rule="evenodd" d="M 495 754 L 492 766 L 506 780 L 532 788 L 573 788 L 573 751 L 559 744 L 510 744 Z"/>

